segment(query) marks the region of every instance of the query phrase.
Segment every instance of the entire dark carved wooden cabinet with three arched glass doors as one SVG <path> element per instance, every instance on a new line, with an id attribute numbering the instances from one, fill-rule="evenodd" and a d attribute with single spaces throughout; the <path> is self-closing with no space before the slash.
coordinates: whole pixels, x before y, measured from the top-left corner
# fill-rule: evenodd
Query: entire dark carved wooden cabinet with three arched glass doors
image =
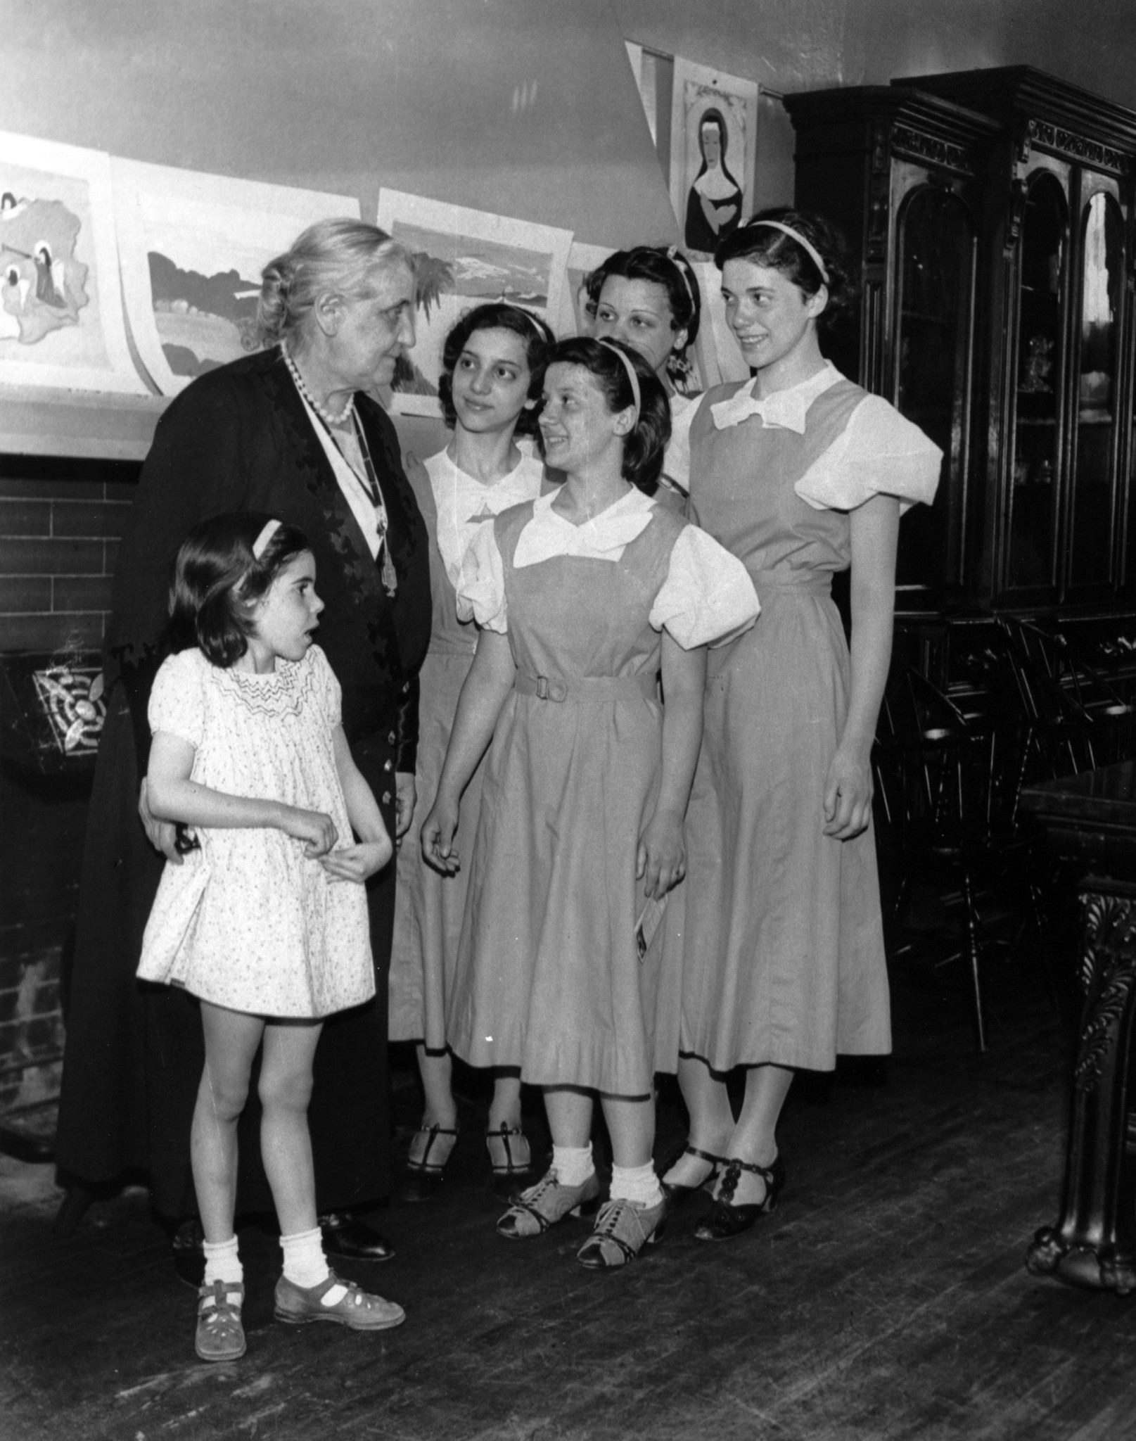
<path id="1" fill-rule="evenodd" d="M 860 264 L 834 359 L 946 451 L 898 610 L 1130 607 L 1136 112 L 1028 66 L 786 107 Z"/>

